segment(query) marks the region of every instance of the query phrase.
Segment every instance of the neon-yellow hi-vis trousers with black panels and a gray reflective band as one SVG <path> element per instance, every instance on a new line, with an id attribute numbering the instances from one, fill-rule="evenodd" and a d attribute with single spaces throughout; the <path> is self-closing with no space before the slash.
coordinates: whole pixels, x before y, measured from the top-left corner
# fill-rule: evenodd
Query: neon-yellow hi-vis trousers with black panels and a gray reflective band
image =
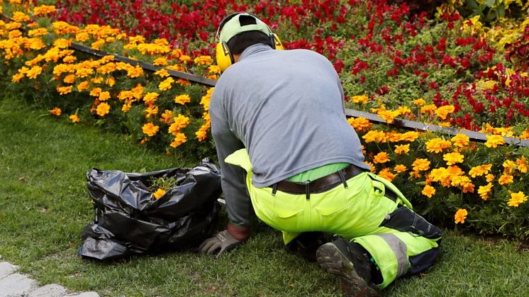
<path id="1" fill-rule="evenodd" d="M 411 211 L 411 204 L 396 186 L 370 172 L 347 180 L 323 193 L 289 194 L 252 185 L 252 164 L 245 149 L 233 152 L 225 162 L 243 167 L 255 214 L 283 232 L 287 244 L 301 232 L 321 231 L 362 245 L 373 257 L 385 288 L 399 276 L 415 274 L 435 262 L 442 233 Z M 384 196 L 386 188 L 398 197 Z"/>

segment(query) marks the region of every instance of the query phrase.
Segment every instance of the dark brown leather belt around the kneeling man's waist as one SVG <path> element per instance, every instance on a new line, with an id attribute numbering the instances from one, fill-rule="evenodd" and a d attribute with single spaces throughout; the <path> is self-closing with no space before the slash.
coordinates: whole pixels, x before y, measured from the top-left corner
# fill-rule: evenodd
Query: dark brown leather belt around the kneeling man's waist
<path id="1" fill-rule="evenodd" d="M 313 181 L 296 182 L 285 179 L 271 186 L 273 189 L 272 194 L 275 194 L 275 191 L 279 190 L 290 194 L 306 194 L 308 198 L 309 194 L 321 193 L 328 189 L 332 189 L 339 184 L 343 184 L 347 187 L 347 179 L 361 174 L 362 172 L 365 172 L 365 170 L 350 164 L 344 169 L 338 170 L 338 172 L 322 176 Z"/>

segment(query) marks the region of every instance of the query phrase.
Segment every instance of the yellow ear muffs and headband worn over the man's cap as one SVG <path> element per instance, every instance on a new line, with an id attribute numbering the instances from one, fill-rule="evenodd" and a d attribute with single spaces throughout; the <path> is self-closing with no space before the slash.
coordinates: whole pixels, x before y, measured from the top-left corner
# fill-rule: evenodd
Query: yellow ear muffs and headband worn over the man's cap
<path id="1" fill-rule="evenodd" d="M 272 33 L 272 30 L 270 29 L 270 27 L 266 23 L 262 22 L 259 18 L 257 18 L 257 16 L 255 16 L 252 13 L 246 13 L 246 12 L 231 13 L 230 15 L 226 16 L 221 21 L 221 23 L 218 25 L 217 32 L 216 32 L 216 35 L 215 35 L 215 39 L 217 41 L 217 45 L 216 45 L 216 60 L 217 60 L 217 65 L 218 65 L 219 68 L 221 68 L 222 72 L 226 68 L 230 67 L 230 65 L 235 63 L 235 60 L 233 58 L 233 54 L 230 52 L 230 48 L 228 47 L 228 41 L 231 38 L 233 38 L 233 36 L 238 35 L 238 34 L 243 33 L 243 32 L 250 31 L 250 30 L 240 30 L 240 32 L 235 31 L 235 33 L 232 33 L 233 35 L 230 36 L 228 38 L 228 40 L 221 40 L 221 31 L 222 31 L 223 27 L 225 26 L 225 24 L 228 23 L 228 21 L 230 21 L 232 18 L 234 18 L 235 16 L 238 16 L 238 15 L 240 15 L 242 13 L 250 15 L 250 16 L 253 16 L 254 18 L 257 19 L 258 22 L 260 22 L 259 25 L 262 24 L 262 25 L 265 26 L 265 28 L 267 30 L 266 34 L 269 36 L 270 45 L 272 45 L 273 49 L 275 49 L 275 50 L 283 50 L 284 49 L 283 44 L 281 43 L 281 40 L 279 39 L 279 37 L 277 35 L 275 35 L 274 33 Z M 265 33 L 265 32 L 263 32 L 262 28 L 260 28 L 258 30 L 260 32 L 262 32 L 262 33 Z"/>

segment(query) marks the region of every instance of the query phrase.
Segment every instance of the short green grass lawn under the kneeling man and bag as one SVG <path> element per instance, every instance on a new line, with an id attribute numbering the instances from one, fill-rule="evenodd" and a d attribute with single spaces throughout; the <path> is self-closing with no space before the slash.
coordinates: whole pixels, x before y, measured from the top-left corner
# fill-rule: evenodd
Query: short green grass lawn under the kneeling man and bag
<path id="1" fill-rule="evenodd" d="M 221 259 L 189 251 L 113 263 L 76 253 L 94 218 L 85 174 L 92 167 L 148 172 L 189 167 L 123 135 L 74 125 L 0 99 L 0 261 L 40 284 L 104 296 L 340 296 L 316 264 L 287 254 L 279 232 L 256 222 L 252 238 Z M 218 228 L 223 228 L 225 219 Z M 445 230 L 440 261 L 427 273 L 396 281 L 387 296 L 529 296 L 529 253 L 521 243 Z"/>

